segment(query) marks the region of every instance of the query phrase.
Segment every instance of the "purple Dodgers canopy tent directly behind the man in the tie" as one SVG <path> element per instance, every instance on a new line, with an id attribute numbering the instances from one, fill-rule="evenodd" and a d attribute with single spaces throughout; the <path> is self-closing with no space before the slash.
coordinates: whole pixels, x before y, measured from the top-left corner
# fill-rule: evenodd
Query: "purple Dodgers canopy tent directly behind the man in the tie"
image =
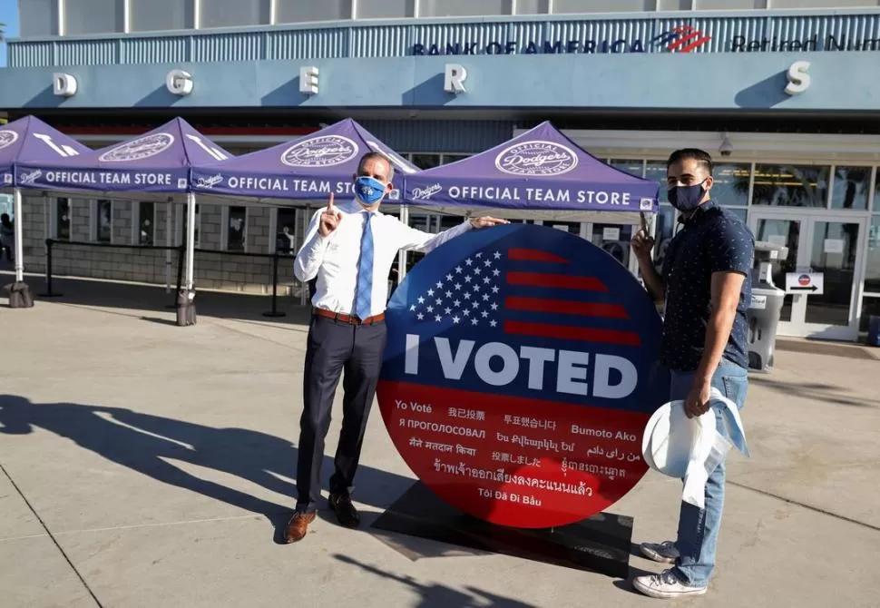
<path id="1" fill-rule="evenodd" d="M 354 196 L 352 176 L 367 152 L 381 152 L 394 164 L 395 183 L 400 175 L 418 169 L 355 121 L 347 118 L 292 142 L 242 154 L 229 161 L 192 168 L 192 191 L 249 197 L 264 203 L 278 199 L 327 201 Z M 400 190 L 388 201 L 400 201 Z M 275 202 L 275 204 L 279 204 Z"/>

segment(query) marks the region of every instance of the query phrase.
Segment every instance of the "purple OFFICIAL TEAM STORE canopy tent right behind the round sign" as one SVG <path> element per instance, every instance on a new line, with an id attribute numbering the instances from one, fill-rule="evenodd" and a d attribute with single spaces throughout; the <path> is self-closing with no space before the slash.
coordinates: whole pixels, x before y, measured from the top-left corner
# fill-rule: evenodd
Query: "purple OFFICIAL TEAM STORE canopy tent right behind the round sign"
<path id="1" fill-rule="evenodd" d="M 547 121 L 462 161 L 407 175 L 404 200 L 453 214 L 636 223 L 640 211 L 657 210 L 657 192 L 655 181 L 601 162 Z M 604 212 L 613 219 L 597 218 Z"/>

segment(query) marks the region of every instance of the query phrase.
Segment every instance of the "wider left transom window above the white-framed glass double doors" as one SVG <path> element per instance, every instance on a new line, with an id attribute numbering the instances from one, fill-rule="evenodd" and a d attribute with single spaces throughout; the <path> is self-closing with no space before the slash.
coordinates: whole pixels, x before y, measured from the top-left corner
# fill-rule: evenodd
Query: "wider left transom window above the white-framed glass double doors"
<path id="1" fill-rule="evenodd" d="M 752 204 L 824 208 L 830 173 L 827 166 L 758 164 Z"/>

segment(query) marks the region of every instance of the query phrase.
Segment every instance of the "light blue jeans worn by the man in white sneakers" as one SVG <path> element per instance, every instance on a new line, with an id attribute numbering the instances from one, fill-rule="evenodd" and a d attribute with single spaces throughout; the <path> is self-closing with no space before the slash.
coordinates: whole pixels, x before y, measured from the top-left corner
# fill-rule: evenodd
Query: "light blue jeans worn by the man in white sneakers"
<path id="1" fill-rule="evenodd" d="M 672 372 L 670 400 L 684 400 L 693 386 L 693 372 Z M 721 360 L 719 368 L 712 376 L 712 386 L 737 404 L 739 409 L 745 405 L 748 390 L 748 369 L 740 368 L 730 361 Z M 715 421 L 719 428 L 724 423 L 718 409 Z M 709 577 L 715 569 L 715 545 L 721 527 L 721 511 L 724 507 L 724 461 L 709 476 L 706 483 L 706 508 L 699 509 L 682 501 L 679 515 L 679 536 L 675 548 L 679 558 L 672 572 L 682 583 L 693 586 L 709 584 Z"/>

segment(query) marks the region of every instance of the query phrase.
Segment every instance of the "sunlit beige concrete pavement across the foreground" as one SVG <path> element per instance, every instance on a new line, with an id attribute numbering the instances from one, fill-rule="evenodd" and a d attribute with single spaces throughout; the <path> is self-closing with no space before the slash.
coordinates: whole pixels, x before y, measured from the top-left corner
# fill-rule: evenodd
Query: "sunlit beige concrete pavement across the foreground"
<path id="1" fill-rule="evenodd" d="M 377 412 L 358 474 L 365 525 L 323 513 L 302 543 L 279 544 L 302 311 L 285 300 L 291 314 L 269 323 L 267 299 L 202 294 L 199 324 L 177 328 L 161 289 L 58 287 L 64 299 L 0 309 L 0 606 L 660 603 L 601 574 L 371 529 L 413 482 Z M 877 605 L 878 373 L 874 358 L 781 351 L 753 376 L 752 456 L 729 461 L 718 572 L 680 605 Z M 649 473 L 611 512 L 635 518 L 634 542 L 663 540 L 679 498 Z M 631 558 L 633 574 L 660 569 Z"/>

